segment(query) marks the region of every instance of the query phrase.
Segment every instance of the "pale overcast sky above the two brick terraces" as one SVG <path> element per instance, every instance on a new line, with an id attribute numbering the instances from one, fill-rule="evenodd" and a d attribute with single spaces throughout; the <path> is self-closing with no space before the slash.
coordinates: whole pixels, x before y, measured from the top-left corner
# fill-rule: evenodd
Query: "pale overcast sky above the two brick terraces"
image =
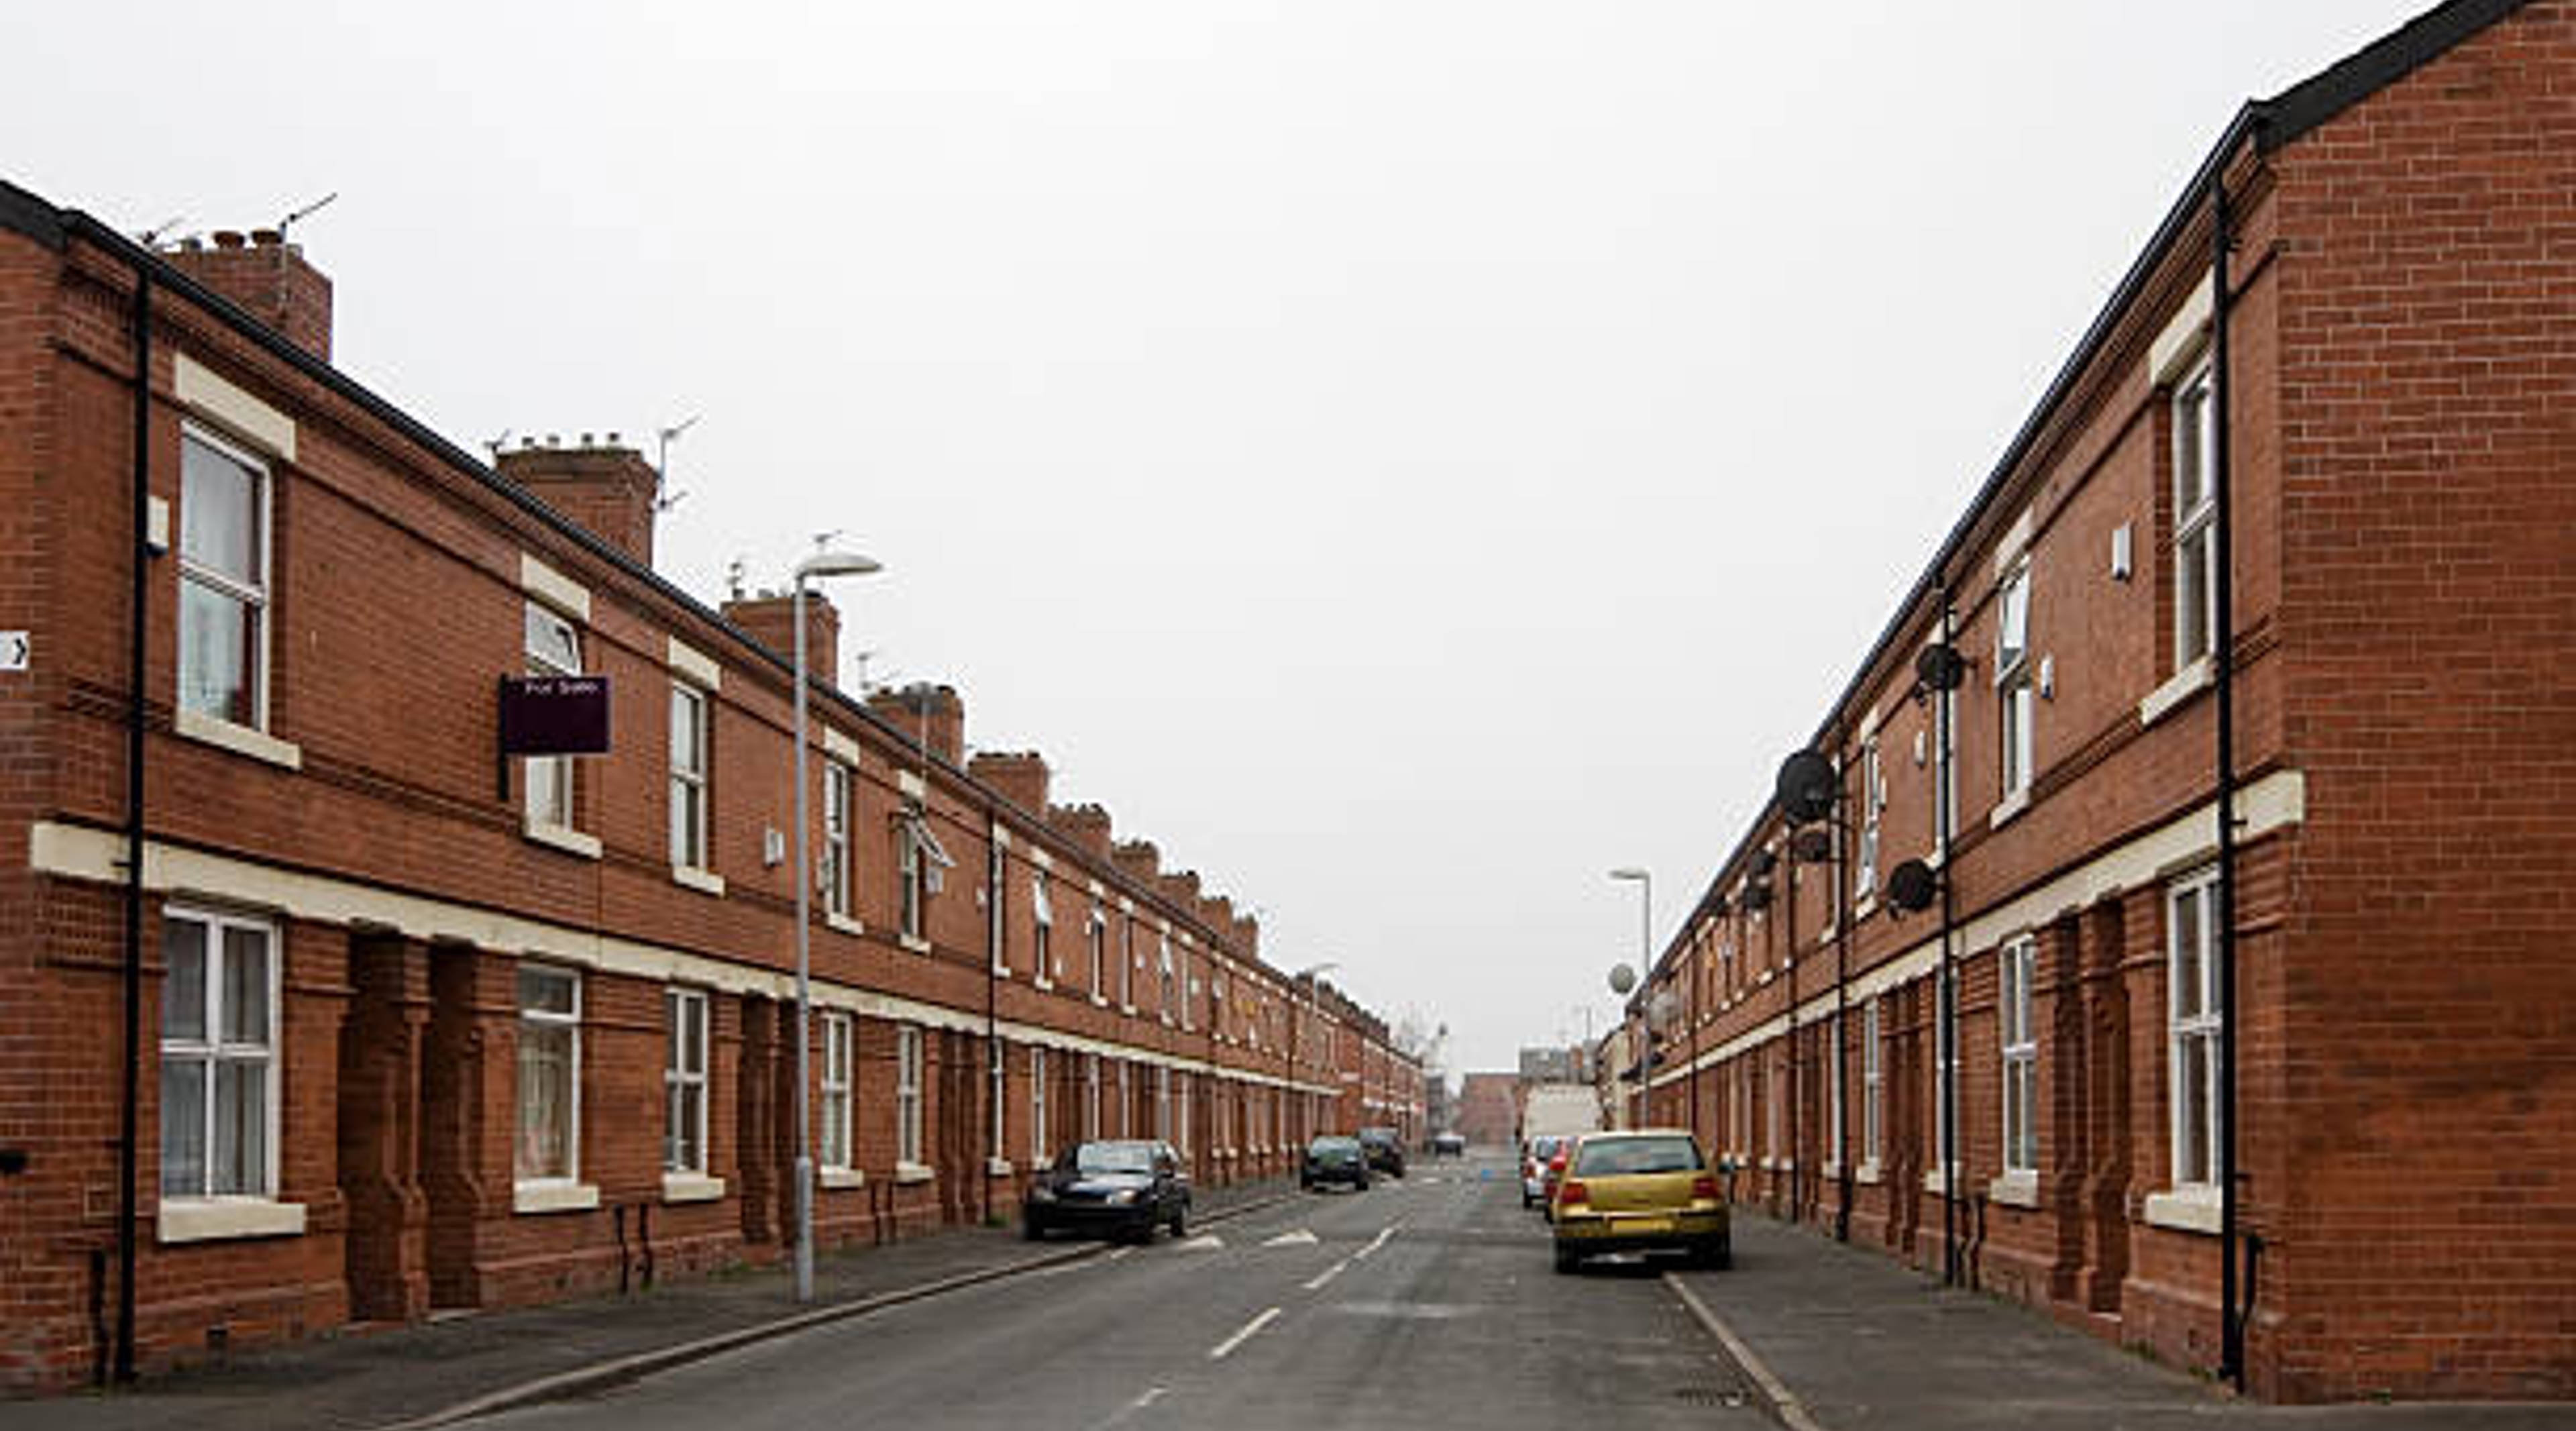
<path id="1" fill-rule="evenodd" d="M 0 173 L 337 191 L 361 382 L 466 446 L 703 415 L 670 578 L 842 529 L 845 652 L 1507 1067 L 2236 106 L 2427 3 L 21 5 Z"/>

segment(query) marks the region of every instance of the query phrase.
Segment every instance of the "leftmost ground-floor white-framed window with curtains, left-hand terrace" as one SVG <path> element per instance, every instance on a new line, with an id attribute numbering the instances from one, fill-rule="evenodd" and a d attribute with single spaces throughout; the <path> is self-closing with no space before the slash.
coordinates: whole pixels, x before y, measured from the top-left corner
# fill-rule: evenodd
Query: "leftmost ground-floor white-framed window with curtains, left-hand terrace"
<path id="1" fill-rule="evenodd" d="M 276 1194 L 278 933 L 162 913 L 162 1196 Z"/>

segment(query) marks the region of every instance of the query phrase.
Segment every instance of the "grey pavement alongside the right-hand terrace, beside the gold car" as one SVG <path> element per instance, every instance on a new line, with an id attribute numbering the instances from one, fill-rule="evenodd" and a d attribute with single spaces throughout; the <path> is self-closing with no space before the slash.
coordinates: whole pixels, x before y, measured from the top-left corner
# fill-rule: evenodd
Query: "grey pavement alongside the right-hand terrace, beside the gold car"
<path id="1" fill-rule="evenodd" d="M 1667 1271 L 1790 1431 L 2568 1431 L 2576 1405 L 2259 1405 L 2020 1302 L 1736 1212 L 1734 1269 Z"/>

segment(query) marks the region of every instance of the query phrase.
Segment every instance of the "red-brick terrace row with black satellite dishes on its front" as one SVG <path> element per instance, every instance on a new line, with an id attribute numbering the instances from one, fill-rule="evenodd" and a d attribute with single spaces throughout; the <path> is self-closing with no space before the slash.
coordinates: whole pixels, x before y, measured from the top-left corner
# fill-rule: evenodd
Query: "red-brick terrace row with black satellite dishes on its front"
<path id="1" fill-rule="evenodd" d="M 2576 5 L 2246 106 L 1662 951 L 1631 1098 L 2264 1397 L 2576 1395 L 2571 413 Z"/>

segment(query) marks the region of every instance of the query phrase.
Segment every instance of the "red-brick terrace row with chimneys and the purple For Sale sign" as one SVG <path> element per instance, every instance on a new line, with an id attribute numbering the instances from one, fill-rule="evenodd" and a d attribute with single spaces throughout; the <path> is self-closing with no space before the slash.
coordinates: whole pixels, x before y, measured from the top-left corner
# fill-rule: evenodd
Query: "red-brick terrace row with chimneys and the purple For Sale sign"
<path id="1" fill-rule="evenodd" d="M 783 1253 L 793 606 L 657 578 L 654 482 L 361 389 L 281 235 L 0 186 L 0 1385 Z M 502 676 L 605 750 L 502 755 Z M 814 688 L 819 1243 L 1417 1116 L 1383 1018 L 963 750 L 951 688 Z"/>

